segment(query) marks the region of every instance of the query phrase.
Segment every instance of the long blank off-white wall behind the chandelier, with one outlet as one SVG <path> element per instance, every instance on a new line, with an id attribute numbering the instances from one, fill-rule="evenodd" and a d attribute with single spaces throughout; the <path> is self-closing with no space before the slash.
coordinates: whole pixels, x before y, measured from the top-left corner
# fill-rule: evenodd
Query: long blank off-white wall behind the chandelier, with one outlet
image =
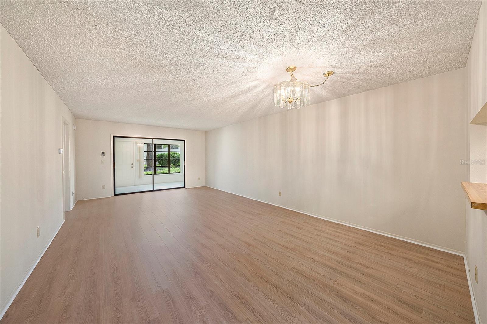
<path id="1" fill-rule="evenodd" d="M 462 68 L 206 132 L 206 185 L 465 251 L 464 78 Z"/>

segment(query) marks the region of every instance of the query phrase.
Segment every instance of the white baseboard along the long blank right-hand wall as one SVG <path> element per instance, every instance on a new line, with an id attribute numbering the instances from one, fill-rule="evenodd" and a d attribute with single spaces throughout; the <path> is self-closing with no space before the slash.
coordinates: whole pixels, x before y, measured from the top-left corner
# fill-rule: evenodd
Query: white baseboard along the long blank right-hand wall
<path id="1" fill-rule="evenodd" d="M 465 255 L 464 252 L 460 252 L 460 251 L 457 251 L 457 250 L 445 248 L 445 247 L 442 247 L 442 246 L 434 245 L 434 244 L 427 243 L 427 242 L 423 242 L 423 241 L 420 241 L 420 240 L 405 238 L 405 237 L 402 237 L 402 236 L 399 236 L 399 235 L 395 235 L 395 234 L 391 234 L 391 233 L 387 233 L 387 232 L 382 232 L 382 231 L 379 231 L 379 230 L 375 230 L 373 228 L 368 228 L 368 227 L 364 227 L 364 226 L 360 226 L 360 225 L 356 225 L 356 224 L 352 224 L 352 223 L 348 223 L 348 222 L 342 222 L 342 221 L 339 221 L 339 220 L 336 220 L 336 219 L 333 219 L 333 218 L 328 218 L 328 217 L 325 217 L 325 216 L 322 216 L 322 215 L 318 215 L 318 214 L 311 214 L 311 213 L 308 213 L 308 212 L 306 212 L 304 210 L 299 210 L 299 209 L 289 208 L 289 207 L 286 207 L 286 206 L 283 206 L 283 205 L 277 205 L 277 204 L 269 203 L 269 202 L 266 202 L 266 201 L 263 201 L 263 200 L 260 200 L 260 199 L 256 199 L 256 198 L 252 198 L 252 197 L 247 197 L 247 196 L 244 196 L 244 195 L 240 195 L 238 193 L 231 192 L 231 191 L 226 191 L 226 190 L 222 190 L 222 189 L 218 189 L 218 188 L 213 188 L 213 187 L 210 187 L 210 186 L 206 186 L 206 187 L 212 188 L 212 189 L 217 189 L 217 190 L 220 190 L 220 191 L 225 191 L 225 192 L 231 193 L 233 195 L 245 197 L 245 198 L 248 198 L 248 199 L 256 200 L 256 201 L 261 202 L 261 203 L 265 203 L 265 204 L 274 205 L 274 206 L 278 206 L 278 207 L 281 207 L 281 208 L 289 209 L 289 210 L 296 211 L 296 212 L 301 213 L 301 214 L 305 214 L 305 215 L 308 215 L 308 216 L 320 218 L 320 219 L 325 220 L 325 221 L 330 221 L 330 222 L 334 222 L 334 223 L 338 223 L 338 224 L 342 224 L 342 225 L 346 225 L 346 226 L 358 228 L 358 229 L 361 229 L 361 230 L 364 230 L 364 231 L 367 231 L 367 232 L 372 232 L 372 233 L 375 233 L 375 234 L 387 236 L 387 237 L 390 237 L 390 238 L 393 238 L 393 239 L 400 239 L 402 241 L 406 241 L 406 242 L 410 242 L 410 243 L 414 243 L 414 244 L 426 246 L 426 247 L 429 247 L 431 249 L 440 250 L 440 251 L 443 251 L 443 252 L 448 252 L 448 253 L 451 253 L 451 254 L 455 254 L 457 256 L 464 256 Z"/>

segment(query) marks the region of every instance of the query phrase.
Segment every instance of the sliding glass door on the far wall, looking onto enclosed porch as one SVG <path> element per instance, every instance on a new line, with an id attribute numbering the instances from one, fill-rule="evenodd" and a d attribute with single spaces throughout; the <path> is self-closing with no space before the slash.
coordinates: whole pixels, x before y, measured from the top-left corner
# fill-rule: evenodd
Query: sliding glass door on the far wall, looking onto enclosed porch
<path id="1" fill-rule="evenodd" d="M 184 140 L 113 136 L 113 193 L 185 188 L 184 162 Z"/>

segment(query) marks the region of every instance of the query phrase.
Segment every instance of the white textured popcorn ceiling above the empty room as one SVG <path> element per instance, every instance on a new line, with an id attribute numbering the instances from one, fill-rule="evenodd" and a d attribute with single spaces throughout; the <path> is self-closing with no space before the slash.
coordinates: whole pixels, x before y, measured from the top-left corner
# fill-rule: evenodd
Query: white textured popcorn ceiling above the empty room
<path id="1" fill-rule="evenodd" d="M 285 67 L 323 102 L 463 68 L 480 1 L 1 0 L 76 118 L 210 130 L 281 112 Z M 306 109 L 306 108 L 303 108 Z"/>

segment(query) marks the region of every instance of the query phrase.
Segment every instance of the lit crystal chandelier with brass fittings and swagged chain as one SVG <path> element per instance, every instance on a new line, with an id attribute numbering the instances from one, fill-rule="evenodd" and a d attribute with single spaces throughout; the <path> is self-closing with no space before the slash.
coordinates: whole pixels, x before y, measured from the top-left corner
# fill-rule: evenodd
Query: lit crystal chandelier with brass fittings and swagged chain
<path id="1" fill-rule="evenodd" d="M 295 66 L 287 67 L 286 72 L 289 72 L 290 80 L 278 82 L 274 85 L 274 105 L 287 109 L 300 109 L 309 104 L 309 88 L 318 85 L 308 85 L 307 82 L 298 81 L 293 74 L 294 71 L 296 71 Z M 334 73 L 333 71 L 323 73 L 326 79 L 319 85 L 324 84 Z"/>

